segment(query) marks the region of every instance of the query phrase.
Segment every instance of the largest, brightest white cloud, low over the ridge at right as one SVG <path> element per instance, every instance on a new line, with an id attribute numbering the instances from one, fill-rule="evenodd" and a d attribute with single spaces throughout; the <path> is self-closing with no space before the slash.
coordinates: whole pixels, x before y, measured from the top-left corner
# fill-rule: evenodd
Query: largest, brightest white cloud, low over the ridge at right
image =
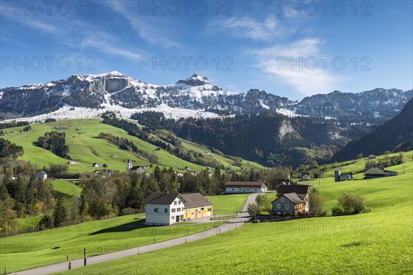
<path id="1" fill-rule="evenodd" d="M 332 91 L 341 80 L 324 67 L 323 58 L 327 56 L 320 53 L 320 44 L 318 39 L 302 39 L 247 53 L 254 56 L 256 67 L 268 78 L 287 83 L 300 94 L 310 96 Z"/>

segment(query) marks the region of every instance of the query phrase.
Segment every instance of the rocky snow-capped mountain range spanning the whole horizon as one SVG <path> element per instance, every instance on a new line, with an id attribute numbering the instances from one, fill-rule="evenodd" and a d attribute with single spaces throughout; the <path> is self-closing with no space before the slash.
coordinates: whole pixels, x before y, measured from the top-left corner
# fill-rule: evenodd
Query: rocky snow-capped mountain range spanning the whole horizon
<path id="1" fill-rule="evenodd" d="M 130 115 L 162 111 L 169 117 L 214 117 L 233 113 L 279 112 L 286 115 L 328 117 L 359 115 L 388 120 L 403 109 L 413 91 L 375 89 L 359 94 L 334 91 L 293 102 L 260 89 L 226 91 L 194 74 L 172 85 L 153 85 L 119 72 L 74 75 L 44 84 L 0 89 L 1 118 L 23 118 L 86 108 Z"/>

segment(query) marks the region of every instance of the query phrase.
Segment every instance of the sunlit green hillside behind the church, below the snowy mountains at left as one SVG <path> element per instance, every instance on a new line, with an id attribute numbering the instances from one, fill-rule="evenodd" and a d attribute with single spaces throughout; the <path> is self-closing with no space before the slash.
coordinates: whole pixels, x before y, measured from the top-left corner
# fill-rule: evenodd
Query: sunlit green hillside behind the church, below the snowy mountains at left
<path id="1" fill-rule="evenodd" d="M 56 130 L 54 127 L 69 127 L 67 130 Z M 8 131 L 7 139 L 23 146 L 25 154 L 20 157 L 31 162 L 39 167 L 48 166 L 50 162 L 55 164 L 66 164 L 67 159 L 63 159 L 47 151 L 43 148 L 34 146 L 40 136 L 50 131 L 59 131 L 66 133 L 66 144 L 70 148 L 69 155 L 72 159 L 78 159 L 78 164 L 69 165 L 72 172 L 85 173 L 95 170 L 92 167 L 94 162 L 107 164 L 107 168 L 125 171 L 127 167 L 127 159 L 132 159 L 134 165 L 149 165 L 149 161 L 135 153 L 121 150 L 118 146 L 111 144 L 107 140 L 97 138 L 100 132 L 111 133 L 119 137 L 125 137 L 131 140 L 143 151 L 147 151 L 151 155 L 158 156 L 159 165 L 165 167 L 173 167 L 177 170 L 183 170 L 185 167 L 190 167 L 192 170 L 204 169 L 204 166 L 193 164 L 180 159 L 169 152 L 160 149 L 156 150 L 157 146 L 144 142 L 137 137 L 127 135 L 127 132 L 118 129 L 114 126 L 103 124 L 98 119 L 94 120 L 70 120 L 65 122 L 50 122 L 41 124 L 32 124 L 32 129 L 28 132 L 21 133 L 23 127 L 6 129 Z M 240 170 L 240 167 L 231 165 L 233 161 L 220 155 L 211 153 L 209 149 L 192 142 L 184 141 L 184 146 L 190 146 L 193 150 L 200 153 L 209 153 L 211 157 L 217 159 L 224 166 L 231 166 L 234 170 Z M 112 158 L 111 155 L 117 155 L 117 158 Z M 243 161 L 244 165 L 252 165 L 262 168 L 262 166 L 254 163 Z"/>

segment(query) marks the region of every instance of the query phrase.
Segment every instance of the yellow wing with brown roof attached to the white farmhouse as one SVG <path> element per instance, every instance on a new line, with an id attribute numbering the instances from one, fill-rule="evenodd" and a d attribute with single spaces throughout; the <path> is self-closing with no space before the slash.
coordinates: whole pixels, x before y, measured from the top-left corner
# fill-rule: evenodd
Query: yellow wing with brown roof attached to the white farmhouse
<path id="1" fill-rule="evenodd" d="M 213 204 L 200 193 L 180 194 L 184 200 L 184 219 L 198 219 L 213 215 Z"/>

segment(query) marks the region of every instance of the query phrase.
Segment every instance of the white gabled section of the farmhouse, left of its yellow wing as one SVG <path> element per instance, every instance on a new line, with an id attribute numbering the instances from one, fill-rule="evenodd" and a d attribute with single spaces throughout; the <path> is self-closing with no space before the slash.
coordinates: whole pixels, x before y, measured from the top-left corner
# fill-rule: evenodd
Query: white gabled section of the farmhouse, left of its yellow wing
<path id="1" fill-rule="evenodd" d="M 184 219 L 184 199 L 179 193 L 152 192 L 143 203 L 147 225 L 171 225 Z"/>

